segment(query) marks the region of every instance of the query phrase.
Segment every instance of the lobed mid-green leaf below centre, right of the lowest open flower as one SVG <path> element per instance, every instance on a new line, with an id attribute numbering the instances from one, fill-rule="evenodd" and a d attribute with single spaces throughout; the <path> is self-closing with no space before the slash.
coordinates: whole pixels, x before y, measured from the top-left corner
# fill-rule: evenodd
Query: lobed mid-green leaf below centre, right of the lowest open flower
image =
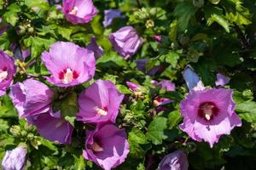
<path id="1" fill-rule="evenodd" d="M 156 117 L 154 121 L 150 122 L 148 126 L 147 138 L 152 141 L 153 144 L 162 144 L 162 140 L 167 136 L 164 134 L 166 129 L 167 119 L 165 117 Z"/>

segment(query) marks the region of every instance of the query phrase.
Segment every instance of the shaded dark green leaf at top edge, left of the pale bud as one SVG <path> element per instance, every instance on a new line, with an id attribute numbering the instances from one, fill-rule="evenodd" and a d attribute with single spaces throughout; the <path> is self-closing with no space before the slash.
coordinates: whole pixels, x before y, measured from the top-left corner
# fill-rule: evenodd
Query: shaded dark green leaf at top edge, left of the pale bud
<path id="1" fill-rule="evenodd" d="M 178 3 L 173 11 L 177 17 L 177 26 L 180 31 L 185 31 L 189 26 L 189 20 L 195 14 L 197 8 L 191 2 Z"/>

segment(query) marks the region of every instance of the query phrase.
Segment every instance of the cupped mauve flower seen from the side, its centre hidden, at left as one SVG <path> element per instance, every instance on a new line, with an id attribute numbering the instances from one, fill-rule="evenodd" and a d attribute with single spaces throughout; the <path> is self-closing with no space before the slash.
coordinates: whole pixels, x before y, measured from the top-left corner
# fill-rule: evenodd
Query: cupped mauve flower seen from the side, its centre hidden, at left
<path id="1" fill-rule="evenodd" d="M 49 111 L 54 92 L 42 82 L 27 79 L 13 85 L 9 96 L 19 112 L 19 116 L 26 117 Z"/>

